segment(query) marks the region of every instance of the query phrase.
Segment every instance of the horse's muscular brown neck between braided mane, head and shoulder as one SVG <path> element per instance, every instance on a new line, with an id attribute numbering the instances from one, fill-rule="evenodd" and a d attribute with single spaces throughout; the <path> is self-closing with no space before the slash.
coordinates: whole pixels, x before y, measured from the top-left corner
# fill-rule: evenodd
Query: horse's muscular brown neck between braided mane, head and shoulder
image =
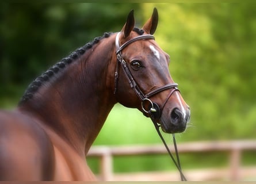
<path id="1" fill-rule="evenodd" d="M 113 40 L 94 45 L 20 108 L 39 117 L 79 152 L 89 150 L 116 103 Z"/>

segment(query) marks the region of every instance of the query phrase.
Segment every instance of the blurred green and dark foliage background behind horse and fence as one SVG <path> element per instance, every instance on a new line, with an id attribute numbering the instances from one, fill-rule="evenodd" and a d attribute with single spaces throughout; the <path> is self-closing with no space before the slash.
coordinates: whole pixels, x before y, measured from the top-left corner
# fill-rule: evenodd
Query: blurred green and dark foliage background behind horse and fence
<path id="1" fill-rule="evenodd" d="M 104 32 L 118 32 L 131 9 L 142 27 L 154 7 L 159 12 L 156 41 L 169 53 L 171 76 L 192 113 L 188 129 L 176 135 L 178 144 L 253 141 L 255 3 L 2 3 L 0 108 L 14 109 L 33 79 L 78 47 Z M 171 135 L 164 137 L 172 146 Z M 117 104 L 94 146 L 152 144 L 161 144 L 152 122 Z M 98 158 L 88 162 L 94 173 L 101 172 Z M 186 153 L 181 163 L 185 170 L 230 167 L 230 154 Z M 255 150 L 244 151 L 240 165 L 256 166 Z M 115 173 L 169 170 L 175 168 L 167 155 L 113 160 Z"/>

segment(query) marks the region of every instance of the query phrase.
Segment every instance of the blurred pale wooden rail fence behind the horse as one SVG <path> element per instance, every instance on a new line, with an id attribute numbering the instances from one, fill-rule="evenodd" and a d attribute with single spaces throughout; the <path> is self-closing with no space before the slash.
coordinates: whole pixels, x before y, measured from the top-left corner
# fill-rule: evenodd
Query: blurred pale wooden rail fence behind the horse
<path id="1" fill-rule="evenodd" d="M 174 152 L 174 148 L 170 148 Z M 228 168 L 205 168 L 202 170 L 184 170 L 189 181 L 227 180 L 241 181 L 244 178 L 256 181 L 256 166 L 242 167 L 243 151 L 256 151 L 256 140 L 243 141 L 204 141 L 178 144 L 179 154 L 228 152 L 230 166 Z M 179 181 L 178 171 L 146 172 L 146 173 L 114 173 L 114 156 L 167 154 L 164 145 L 131 145 L 119 147 L 94 146 L 87 157 L 100 158 L 100 175 L 102 181 Z M 256 154 L 256 152 L 255 152 Z M 256 159 L 256 158 L 255 158 Z"/>

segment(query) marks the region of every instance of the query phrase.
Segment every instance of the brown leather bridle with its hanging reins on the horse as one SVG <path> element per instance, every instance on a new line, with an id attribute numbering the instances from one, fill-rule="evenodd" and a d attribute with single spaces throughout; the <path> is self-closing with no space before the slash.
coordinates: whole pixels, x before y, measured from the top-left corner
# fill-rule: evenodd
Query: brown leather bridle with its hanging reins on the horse
<path id="1" fill-rule="evenodd" d="M 174 148 L 175 148 L 175 154 L 177 157 L 177 162 L 175 161 L 175 159 L 173 158 L 173 155 L 171 155 L 171 152 L 169 150 L 169 147 L 167 146 L 165 140 L 163 139 L 161 132 L 159 131 L 159 127 L 160 125 L 158 124 L 158 120 L 161 117 L 161 113 L 163 108 L 165 107 L 168 99 L 171 97 L 171 95 L 174 93 L 174 91 L 179 91 L 178 90 L 178 84 L 177 83 L 169 83 L 167 85 L 164 85 L 162 87 L 158 87 L 157 89 L 154 89 L 152 91 L 150 91 L 147 94 L 144 94 L 142 92 L 142 90 L 140 90 L 139 86 L 137 85 L 136 81 L 133 79 L 133 76 L 131 74 L 131 72 L 129 71 L 129 68 L 127 67 L 127 63 L 125 62 L 121 51 L 127 47 L 128 45 L 134 43 L 135 41 L 139 41 L 139 40 L 155 40 L 155 37 L 151 34 L 143 34 L 137 37 L 134 37 L 131 40 L 128 40 L 127 42 L 125 42 L 123 45 L 120 46 L 119 44 L 119 36 L 120 33 L 117 33 L 116 35 L 116 55 L 117 55 L 117 64 L 116 64 L 116 72 L 114 72 L 114 94 L 117 93 L 117 82 L 118 82 L 118 78 L 119 78 L 119 65 L 121 65 L 121 67 L 123 68 L 124 74 L 126 76 L 126 78 L 128 79 L 129 85 L 131 86 L 131 88 L 133 89 L 133 91 L 135 91 L 135 94 L 137 95 L 137 97 L 140 98 L 140 100 L 142 101 L 142 109 L 144 112 L 144 115 L 146 116 L 147 114 L 151 117 L 152 122 L 155 125 L 156 131 L 158 132 L 158 135 L 161 137 L 163 144 L 165 144 L 166 150 L 169 153 L 171 159 L 173 160 L 175 166 L 178 168 L 179 174 L 181 175 L 181 180 L 182 181 L 186 181 L 186 178 L 184 176 L 184 174 L 182 173 L 181 170 L 181 165 L 179 163 L 179 157 L 178 157 L 178 151 L 177 151 L 177 145 L 175 142 L 175 136 L 173 134 L 173 140 L 174 140 Z M 158 104 L 156 104 L 155 102 L 152 102 L 150 97 L 161 93 L 162 91 L 171 89 L 169 95 L 167 95 L 167 98 L 165 100 L 165 102 L 163 103 L 163 105 L 161 107 L 159 107 Z M 145 108 L 144 105 L 146 102 L 149 102 L 151 105 L 151 108 Z M 146 110 L 149 109 L 149 110 Z"/>

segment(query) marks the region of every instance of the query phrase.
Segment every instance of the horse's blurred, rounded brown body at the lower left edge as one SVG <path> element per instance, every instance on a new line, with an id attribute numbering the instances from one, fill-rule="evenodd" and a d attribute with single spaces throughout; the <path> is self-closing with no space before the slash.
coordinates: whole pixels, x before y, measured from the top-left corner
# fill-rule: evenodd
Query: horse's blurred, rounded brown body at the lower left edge
<path id="1" fill-rule="evenodd" d="M 52 164 L 54 150 L 44 129 L 32 117 L 1 110 L 0 179 L 51 179 Z"/>

